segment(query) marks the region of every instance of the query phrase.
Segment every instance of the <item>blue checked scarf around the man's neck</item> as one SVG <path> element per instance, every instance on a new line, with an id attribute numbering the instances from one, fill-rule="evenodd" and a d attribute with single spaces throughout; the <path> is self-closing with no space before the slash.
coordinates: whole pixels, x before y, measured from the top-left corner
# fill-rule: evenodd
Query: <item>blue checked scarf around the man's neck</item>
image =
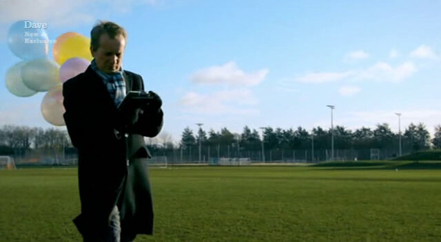
<path id="1" fill-rule="evenodd" d="M 125 81 L 123 78 L 123 68 L 119 72 L 115 72 L 114 74 L 105 74 L 101 72 L 98 67 L 96 67 L 95 59 L 90 63 L 90 67 L 103 78 L 104 85 L 107 87 L 107 91 L 109 91 L 110 96 L 115 102 L 116 107 L 123 101 L 125 97 Z"/>

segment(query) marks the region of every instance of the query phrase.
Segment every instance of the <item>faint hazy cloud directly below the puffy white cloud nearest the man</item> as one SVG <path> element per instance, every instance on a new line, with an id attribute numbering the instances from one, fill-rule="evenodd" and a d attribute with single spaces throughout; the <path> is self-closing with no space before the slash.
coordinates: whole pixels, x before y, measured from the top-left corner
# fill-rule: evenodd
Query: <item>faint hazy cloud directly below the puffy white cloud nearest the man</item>
<path id="1" fill-rule="evenodd" d="M 256 104 L 258 101 L 248 89 L 218 91 L 211 94 L 188 92 L 181 99 L 183 111 L 215 115 L 257 115 L 259 110 L 250 107 Z"/>

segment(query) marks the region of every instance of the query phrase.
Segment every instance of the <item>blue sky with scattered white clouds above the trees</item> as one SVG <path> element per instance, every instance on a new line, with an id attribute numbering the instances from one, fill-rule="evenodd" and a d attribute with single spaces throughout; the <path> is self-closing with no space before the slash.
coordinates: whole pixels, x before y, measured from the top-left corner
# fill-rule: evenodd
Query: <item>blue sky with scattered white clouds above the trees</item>
<path id="1" fill-rule="evenodd" d="M 45 93 L 20 98 L 5 86 L 19 62 L 10 25 L 47 23 L 50 40 L 90 36 L 99 20 L 128 33 L 123 68 L 163 100 L 163 134 L 241 133 L 245 125 L 331 126 L 393 132 L 441 124 L 441 1 L 0 0 L 0 126 L 52 127 Z M 52 47 L 52 45 L 50 46 Z M 50 52 L 52 55 L 52 52 Z M 52 58 L 52 56 L 50 56 Z M 59 127 L 57 129 L 65 129 Z"/>

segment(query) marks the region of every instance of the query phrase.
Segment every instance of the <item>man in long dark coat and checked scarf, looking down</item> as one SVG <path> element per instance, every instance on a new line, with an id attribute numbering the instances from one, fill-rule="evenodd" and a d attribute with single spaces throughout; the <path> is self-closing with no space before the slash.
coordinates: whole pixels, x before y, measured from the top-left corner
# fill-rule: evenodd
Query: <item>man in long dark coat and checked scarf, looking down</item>
<path id="1" fill-rule="evenodd" d="M 143 91 L 143 79 L 122 69 L 127 34 L 101 21 L 91 31 L 94 59 L 63 84 L 64 120 L 79 152 L 81 214 L 74 219 L 84 241 L 132 241 L 153 234 L 153 206 L 143 136 L 163 124 L 161 98 L 133 111 L 117 106 L 128 91 Z"/>

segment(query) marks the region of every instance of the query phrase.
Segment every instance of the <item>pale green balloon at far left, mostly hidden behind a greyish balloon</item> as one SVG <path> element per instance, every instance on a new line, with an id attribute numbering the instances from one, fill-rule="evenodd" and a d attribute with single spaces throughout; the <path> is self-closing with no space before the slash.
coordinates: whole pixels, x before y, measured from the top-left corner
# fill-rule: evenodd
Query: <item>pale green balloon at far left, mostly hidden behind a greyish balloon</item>
<path id="1" fill-rule="evenodd" d="M 6 72 L 6 88 L 15 96 L 28 97 L 37 94 L 37 91 L 29 89 L 23 83 L 21 79 L 21 67 L 23 67 L 23 65 L 25 65 L 25 61 L 20 61 L 12 67 L 9 67 L 8 72 Z"/>

